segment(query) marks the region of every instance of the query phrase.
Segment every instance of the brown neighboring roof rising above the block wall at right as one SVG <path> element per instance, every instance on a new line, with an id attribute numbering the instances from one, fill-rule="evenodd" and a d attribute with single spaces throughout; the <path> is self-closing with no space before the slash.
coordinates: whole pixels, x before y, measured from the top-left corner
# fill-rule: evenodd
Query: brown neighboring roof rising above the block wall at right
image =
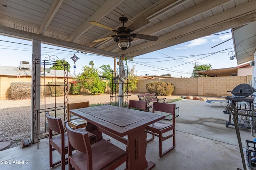
<path id="1" fill-rule="evenodd" d="M 250 63 L 246 63 L 236 67 L 229 67 L 229 68 L 219 68 L 219 69 L 212 69 L 212 70 L 201 70 L 195 71 L 199 76 L 208 76 L 208 77 L 220 77 L 220 76 L 231 76 L 237 75 L 238 68 L 249 68 Z M 248 75 L 252 75 L 252 72 Z"/>

